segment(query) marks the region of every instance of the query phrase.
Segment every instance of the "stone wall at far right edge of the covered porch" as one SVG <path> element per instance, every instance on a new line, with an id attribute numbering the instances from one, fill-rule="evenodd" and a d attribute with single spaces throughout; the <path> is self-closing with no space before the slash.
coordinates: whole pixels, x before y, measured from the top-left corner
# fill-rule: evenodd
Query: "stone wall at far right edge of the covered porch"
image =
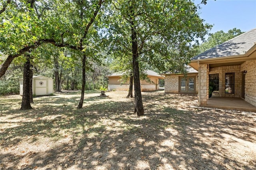
<path id="1" fill-rule="evenodd" d="M 245 75 L 245 101 L 256 107 L 256 60 L 246 61 L 241 65 Z"/>

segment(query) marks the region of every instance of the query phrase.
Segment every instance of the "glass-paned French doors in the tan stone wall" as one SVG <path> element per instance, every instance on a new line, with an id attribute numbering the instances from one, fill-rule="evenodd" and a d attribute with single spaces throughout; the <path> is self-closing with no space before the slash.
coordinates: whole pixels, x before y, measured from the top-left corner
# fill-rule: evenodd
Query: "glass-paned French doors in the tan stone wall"
<path id="1" fill-rule="evenodd" d="M 179 91 L 181 93 L 196 93 L 196 77 L 179 77 Z"/>

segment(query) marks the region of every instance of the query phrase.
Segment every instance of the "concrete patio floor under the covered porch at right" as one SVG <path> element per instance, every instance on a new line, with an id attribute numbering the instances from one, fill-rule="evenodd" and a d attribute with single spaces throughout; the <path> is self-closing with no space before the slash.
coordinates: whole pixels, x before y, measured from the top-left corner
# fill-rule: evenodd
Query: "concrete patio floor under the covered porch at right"
<path id="1" fill-rule="evenodd" d="M 207 99 L 207 105 L 201 105 L 201 106 L 218 108 L 218 109 L 251 111 L 256 113 L 256 107 L 244 101 L 244 99 L 242 98 L 211 97 L 210 99 Z"/>

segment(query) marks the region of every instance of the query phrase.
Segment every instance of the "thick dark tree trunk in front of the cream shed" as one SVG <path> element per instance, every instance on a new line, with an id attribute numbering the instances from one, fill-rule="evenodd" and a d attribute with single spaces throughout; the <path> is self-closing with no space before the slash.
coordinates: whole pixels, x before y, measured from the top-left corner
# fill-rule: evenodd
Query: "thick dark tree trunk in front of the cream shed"
<path id="1" fill-rule="evenodd" d="M 23 70 L 23 94 L 22 94 L 22 103 L 20 110 L 32 109 L 30 105 L 30 59 L 27 57 L 27 61 L 24 64 Z"/>

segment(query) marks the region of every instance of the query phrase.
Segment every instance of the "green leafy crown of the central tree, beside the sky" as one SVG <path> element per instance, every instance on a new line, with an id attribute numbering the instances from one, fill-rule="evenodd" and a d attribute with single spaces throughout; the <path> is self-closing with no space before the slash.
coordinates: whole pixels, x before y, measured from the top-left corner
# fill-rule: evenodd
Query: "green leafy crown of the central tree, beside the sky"
<path id="1" fill-rule="evenodd" d="M 134 9 L 134 14 L 130 14 L 130 7 Z M 109 20 L 115 22 L 110 22 L 107 34 L 110 49 L 119 51 L 114 53 L 114 56 L 121 58 L 118 60 L 120 65 L 132 62 L 132 20 L 138 35 L 140 67 L 144 65 L 144 70 L 150 66 L 158 71 L 183 71 L 184 65 L 188 64 L 195 54 L 197 40 L 203 39 L 211 28 L 209 24 L 203 23 L 197 10 L 198 7 L 190 0 L 113 2 Z"/>

